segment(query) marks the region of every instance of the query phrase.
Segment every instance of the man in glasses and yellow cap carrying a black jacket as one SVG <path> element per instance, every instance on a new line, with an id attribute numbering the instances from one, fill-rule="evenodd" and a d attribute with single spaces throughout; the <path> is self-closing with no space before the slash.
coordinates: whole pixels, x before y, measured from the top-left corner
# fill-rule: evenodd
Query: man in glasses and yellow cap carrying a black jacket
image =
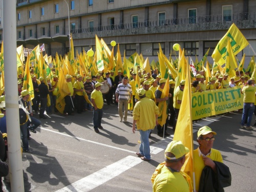
<path id="1" fill-rule="evenodd" d="M 214 145 L 216 132 L 211 131 L 210 127 L 203 126 L 197 132 L 197 141 L 199 147 L 194 150 L 195 161 L 195 177 L 196 177 L 196 190 L 199 190 L 199 183 L 202 170 L 205 166 L 209 166 L 216 172 L 216 164 L 214 161 L 223 163 L 221 153 L 212 148 Z"/>

